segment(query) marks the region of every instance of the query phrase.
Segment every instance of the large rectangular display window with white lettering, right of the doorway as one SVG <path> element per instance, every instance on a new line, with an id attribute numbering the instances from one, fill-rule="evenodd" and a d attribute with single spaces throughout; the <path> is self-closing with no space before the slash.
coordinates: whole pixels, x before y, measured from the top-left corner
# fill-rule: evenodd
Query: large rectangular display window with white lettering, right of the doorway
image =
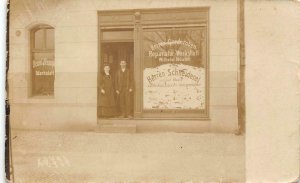
<path id="1" fill-rule="evenodd" d="M 146 30 L 143 108 L 206 110 L 205 29 Z"/>

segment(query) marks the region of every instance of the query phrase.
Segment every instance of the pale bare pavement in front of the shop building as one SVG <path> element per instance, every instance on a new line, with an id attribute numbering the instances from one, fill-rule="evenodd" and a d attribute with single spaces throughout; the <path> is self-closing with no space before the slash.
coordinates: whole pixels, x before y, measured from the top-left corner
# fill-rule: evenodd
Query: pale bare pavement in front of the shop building
<path id="1" fill-rule="evenodd" d="M 12 131 L 15 183 L 245 182 L 234 134 Z"/>

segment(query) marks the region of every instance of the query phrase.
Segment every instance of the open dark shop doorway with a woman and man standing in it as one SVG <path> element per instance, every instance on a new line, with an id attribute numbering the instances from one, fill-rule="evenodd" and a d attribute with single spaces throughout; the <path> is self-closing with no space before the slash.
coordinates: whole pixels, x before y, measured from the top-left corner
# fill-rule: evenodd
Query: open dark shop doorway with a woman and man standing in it
<path id="1" fill-rule="evenodd" d="M 118 33 L 122 34 L 122 32 Z M 128 31 L 126 33 L 128 34 Z M 104 37 L 100 45 L 98 118 L 132 118 L 134 98 L 133 42 L 112 41 Z"/>

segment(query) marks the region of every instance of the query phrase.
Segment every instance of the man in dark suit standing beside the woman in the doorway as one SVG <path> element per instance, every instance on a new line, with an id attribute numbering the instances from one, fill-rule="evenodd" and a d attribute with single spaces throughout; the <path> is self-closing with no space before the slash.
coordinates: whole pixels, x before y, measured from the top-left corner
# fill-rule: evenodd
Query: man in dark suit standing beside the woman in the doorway
<path id="1" fill-rule="evenodd" d="M 119 107 L 122 118 L 132 118 L 131 99 L 133 93 L 133 78 L 130 70 L 126 68 L 126 61 L 120 61 L 120 69 L 115 76 L 115 89 L 119 98 Z"/>

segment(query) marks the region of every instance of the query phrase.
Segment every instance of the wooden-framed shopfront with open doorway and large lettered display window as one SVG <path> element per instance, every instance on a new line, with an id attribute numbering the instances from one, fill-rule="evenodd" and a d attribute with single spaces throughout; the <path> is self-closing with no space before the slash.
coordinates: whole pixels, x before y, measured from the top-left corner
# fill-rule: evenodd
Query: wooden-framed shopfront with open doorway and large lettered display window
<path id="1" fill-rule="evenodd" d="M 99 78 L 104 65 L 114 76 L 127 62 L 134 119 L 209 118 L 208 15 L 209 8 L 99 12 Z"/>

